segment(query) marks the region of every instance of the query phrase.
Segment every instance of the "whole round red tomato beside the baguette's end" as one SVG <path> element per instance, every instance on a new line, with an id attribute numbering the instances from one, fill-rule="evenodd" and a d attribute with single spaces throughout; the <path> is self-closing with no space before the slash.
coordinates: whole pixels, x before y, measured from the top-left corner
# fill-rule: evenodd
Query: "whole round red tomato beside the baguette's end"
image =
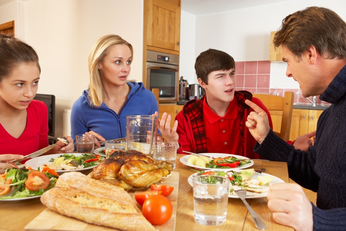
<path id="1" fill-rule="evenodd" d="M 173 206 L 169 199 L 162 195 L 148 197 L 142 206 L 144 217 L 154 225 L 161 225 L 170 220 Z"/>

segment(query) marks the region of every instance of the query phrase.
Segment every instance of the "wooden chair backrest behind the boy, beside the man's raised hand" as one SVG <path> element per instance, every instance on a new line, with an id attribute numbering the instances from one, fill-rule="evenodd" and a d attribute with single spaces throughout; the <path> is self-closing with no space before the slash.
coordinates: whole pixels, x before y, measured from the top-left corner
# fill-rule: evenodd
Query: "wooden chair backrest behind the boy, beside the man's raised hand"
<path id="1" fill-rule="evenodd" d="M 260 99 L 264 106 L 266 106 L 266 108 L 269 110 L 269 113 L 273 120 L 273 131 L 283 140 L 289 140 L 294 93 L 292 91 L 286 91 L 284 97 L 266 94 L 253 94 L 253 97 Z M 273 118 L 280 118 L 281 113 L 281 121 L 280 119 L 276 119 L 276 124 L 274 124 Z M 279 127 L 280 131 L 278 131 Z"/>

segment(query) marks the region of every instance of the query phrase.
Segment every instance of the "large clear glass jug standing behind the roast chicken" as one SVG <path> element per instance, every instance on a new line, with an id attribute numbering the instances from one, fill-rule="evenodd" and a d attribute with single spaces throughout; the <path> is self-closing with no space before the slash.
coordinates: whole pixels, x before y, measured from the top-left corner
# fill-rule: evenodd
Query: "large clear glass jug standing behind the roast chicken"
<path id="1" fill-rule="evenodd" d="M 157 116 L 126 116 L 127 150 L 152 156 L 157 142 Z"/>

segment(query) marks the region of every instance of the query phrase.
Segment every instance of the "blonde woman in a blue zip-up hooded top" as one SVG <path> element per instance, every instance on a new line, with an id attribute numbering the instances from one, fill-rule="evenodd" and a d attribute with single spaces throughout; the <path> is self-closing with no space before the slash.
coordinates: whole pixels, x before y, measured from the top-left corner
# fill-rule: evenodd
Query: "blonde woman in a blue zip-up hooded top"
<path id="1" fill-rule="evenodd" d="M 158 111 L 154 94 L 142 82 L 128 81 L 133 47 L 118 35 L 101 37 L 89 55 L 90 85 L 75 101 L 71 136 L 86 132 L 105 141 L 126 136 L 126 116 Z M 100 146 L 95 139 L 95 145 Z"/>

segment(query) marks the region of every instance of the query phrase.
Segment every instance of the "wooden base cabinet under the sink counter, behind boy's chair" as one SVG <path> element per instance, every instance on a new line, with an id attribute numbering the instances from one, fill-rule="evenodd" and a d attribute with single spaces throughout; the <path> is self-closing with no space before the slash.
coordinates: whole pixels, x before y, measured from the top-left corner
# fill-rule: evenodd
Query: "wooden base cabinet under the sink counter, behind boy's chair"
<path id="1" fill-rule="evenodd" d="M 293 108 L 290 140 L 293 141 L 298 136 L 315 131 L 322 112 L 323 110 Z M 269 113 L 272 117 L 273 131 L 280 132 L 282 112 L 270 110 Z"/>

